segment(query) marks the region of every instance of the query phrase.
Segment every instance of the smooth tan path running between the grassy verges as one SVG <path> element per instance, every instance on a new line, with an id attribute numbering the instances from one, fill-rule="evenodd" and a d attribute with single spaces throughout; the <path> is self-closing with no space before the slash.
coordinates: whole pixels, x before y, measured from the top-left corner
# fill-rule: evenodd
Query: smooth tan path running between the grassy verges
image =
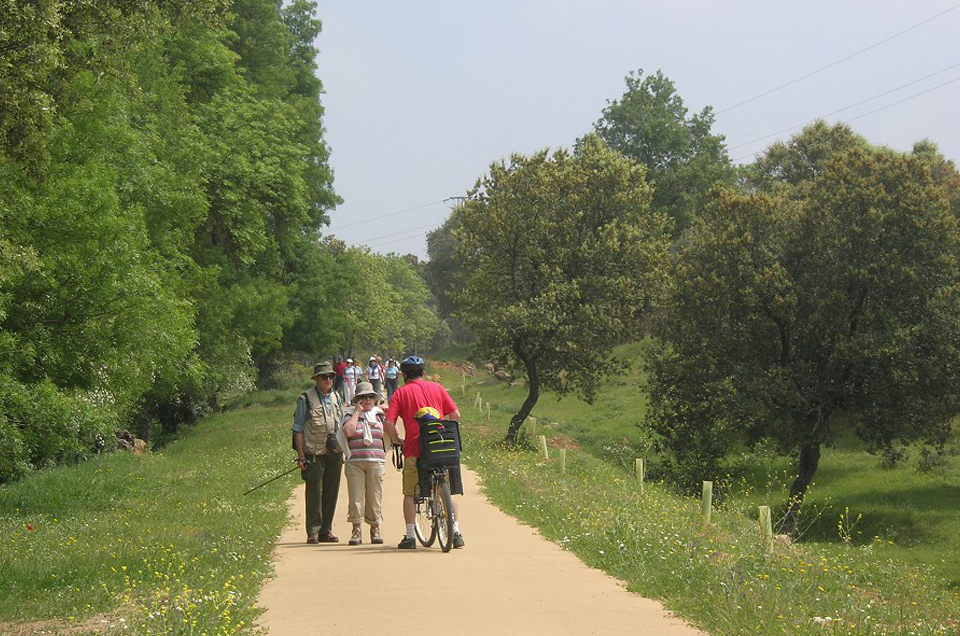
<path id="1" fill-rule="evenodd" d="M 333 532 L 339 544 L 307 545 L 303 487 L 293 521 L 277 542 L 277 576 L 260 594 L 269 636 L 307 634 L 630 634 L 704 636 L 662 606 L 624 590 L 487 501 L 477 476 L 463 471 L 460 516 L 466 546 L 397 550 L 403 534 L 400 476 L 389 464 L 384 539 L 347 545 L 346 479 Z"/>

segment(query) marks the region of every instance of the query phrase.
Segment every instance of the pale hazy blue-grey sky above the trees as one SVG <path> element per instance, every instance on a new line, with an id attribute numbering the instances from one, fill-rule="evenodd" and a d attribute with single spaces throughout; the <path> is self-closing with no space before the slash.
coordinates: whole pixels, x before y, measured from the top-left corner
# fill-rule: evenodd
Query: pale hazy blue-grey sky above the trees
<path id="1" fill-rule="evenodd" d="M 425 258 L 443 199 L 511 153 L 571 146 L 637 69 L 689 114 L 712 106 L 738 162 L 823 118 L 960 163 L 956 0 L 319 0 L 318 17 L 344 200 L 325 233 L 375 252 Z"/>

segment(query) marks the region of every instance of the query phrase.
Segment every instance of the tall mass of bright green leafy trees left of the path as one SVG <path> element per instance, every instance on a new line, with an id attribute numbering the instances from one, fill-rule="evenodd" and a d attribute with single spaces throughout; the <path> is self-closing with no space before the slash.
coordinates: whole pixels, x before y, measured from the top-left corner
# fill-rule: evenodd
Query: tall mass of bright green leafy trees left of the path
<path id="1" fill-rule="evenodd" d="M 0 481 L 282 351 L 338 201 L 314 9 L 0 3 Z"/>

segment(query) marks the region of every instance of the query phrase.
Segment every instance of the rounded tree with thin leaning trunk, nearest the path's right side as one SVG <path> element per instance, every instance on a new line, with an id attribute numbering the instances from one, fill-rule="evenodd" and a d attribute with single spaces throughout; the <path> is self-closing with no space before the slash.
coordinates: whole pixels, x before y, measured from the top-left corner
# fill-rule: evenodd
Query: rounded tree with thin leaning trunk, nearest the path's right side
<path id="1" fill-rule="evenodd" d="M 459 209 L 459 316 L 481 355 L 528 380 L 508 442 L 541 388 L 592 401 L 663 284 L 670 222 L 649 211 L 644 172 L 589 135 L 492 164 Z"/>

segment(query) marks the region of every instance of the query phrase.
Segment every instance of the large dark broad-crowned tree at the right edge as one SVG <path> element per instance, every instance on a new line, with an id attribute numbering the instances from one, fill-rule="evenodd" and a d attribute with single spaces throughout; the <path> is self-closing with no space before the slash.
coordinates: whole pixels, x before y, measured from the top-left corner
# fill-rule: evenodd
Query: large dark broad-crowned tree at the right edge
<path id="1" fill-rule="evenodd" d="M 850 141 L 792 188 L 716 191 L 656 322 L 651 425 L 691 480 L 775 440 L 788 525 L 841 420 L 873 449 L 937 439 L 960 398 L 956 219 L 923 161 Z"/>

